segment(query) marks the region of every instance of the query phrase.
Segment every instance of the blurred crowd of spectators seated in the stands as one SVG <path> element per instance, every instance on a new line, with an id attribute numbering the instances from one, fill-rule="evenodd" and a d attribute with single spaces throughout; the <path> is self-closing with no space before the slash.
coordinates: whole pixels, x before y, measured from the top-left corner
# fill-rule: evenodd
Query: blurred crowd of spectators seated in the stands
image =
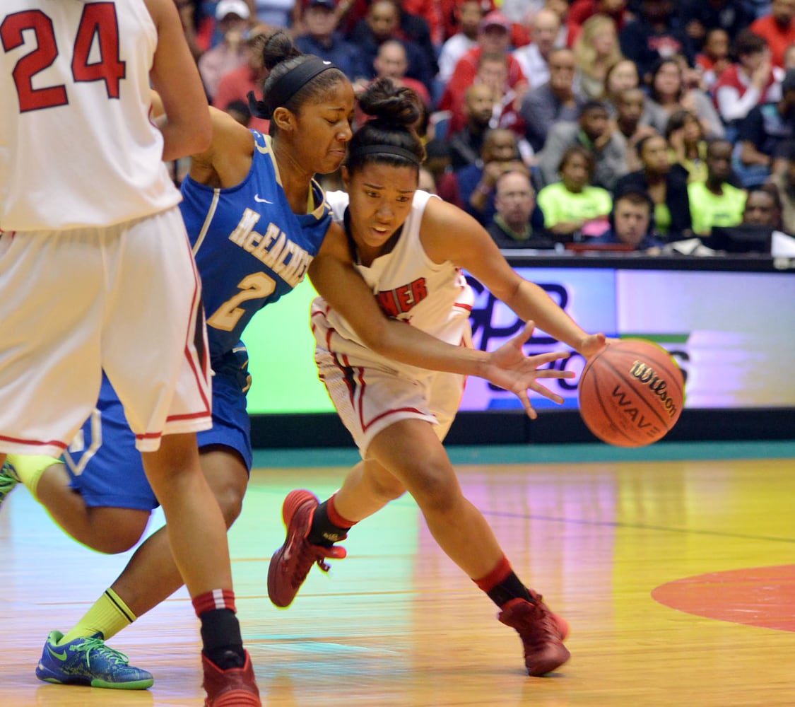
<path id="1" fill-rule="evenodd" d="M 413 88 L 424 187 L 502 248 L 795 234 L 795 0 L 176 4 L 211 103 L 252 128 L 276 29 L 357 88 Z"/>

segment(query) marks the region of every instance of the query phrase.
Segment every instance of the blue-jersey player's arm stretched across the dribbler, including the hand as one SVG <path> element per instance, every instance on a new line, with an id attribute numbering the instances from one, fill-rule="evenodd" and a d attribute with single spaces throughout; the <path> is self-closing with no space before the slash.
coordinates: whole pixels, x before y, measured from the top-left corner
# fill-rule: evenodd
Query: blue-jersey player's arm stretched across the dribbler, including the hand
<path id="1" fill-rule="evenodd" d="M 570 378 L 573 374 L 537 369 L 567 354 L 551 352 L 525 356 L 522 344 L 533 331 L 532 322 L 498 351 L 483 352 L 446 344 L 410 324 L 386 317 L 372 291 L 355 270 L 347 239 L 337 224 L 332 224 L 320 252 L 309 266 L 308 274 L 318 293 L 347 320 L 370 350 L 421 368 L 487 379 L 518 395 L 531 418 L 536 414 L 527 397 L 528 389 L 562 402 L 560 396 L 541 386 L 537 379 Z"/>

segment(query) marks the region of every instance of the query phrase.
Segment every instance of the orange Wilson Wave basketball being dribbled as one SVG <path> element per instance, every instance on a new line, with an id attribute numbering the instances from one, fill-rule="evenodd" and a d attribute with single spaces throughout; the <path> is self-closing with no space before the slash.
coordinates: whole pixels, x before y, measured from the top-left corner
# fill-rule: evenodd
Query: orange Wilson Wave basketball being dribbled
<path id="1" fill-rule="evenodd" d="M 619 447 L 661 440 L 684 405 L 684 377 L 669 352 L 651 341 L 608 344 L 583 369 L 580 415 L 588 429 Z"/>

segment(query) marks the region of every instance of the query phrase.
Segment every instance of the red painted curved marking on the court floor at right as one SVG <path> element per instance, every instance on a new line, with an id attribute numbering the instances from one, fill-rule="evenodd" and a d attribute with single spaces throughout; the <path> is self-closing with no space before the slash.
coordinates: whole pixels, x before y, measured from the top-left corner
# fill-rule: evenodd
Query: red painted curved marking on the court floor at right
<path id="1" fill-rule="evenodd" d="M 795 565 L 700 574 L 660 585 L 651 596 L 708 619 L 795 631 Z"/>

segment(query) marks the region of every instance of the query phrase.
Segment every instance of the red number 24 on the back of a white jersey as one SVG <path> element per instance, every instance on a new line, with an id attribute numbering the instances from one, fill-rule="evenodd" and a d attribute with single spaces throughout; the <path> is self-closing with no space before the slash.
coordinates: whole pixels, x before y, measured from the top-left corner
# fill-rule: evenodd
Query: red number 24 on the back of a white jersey
<path id="1" fill-rule="evenodd" d="M 0 41 L 6 52 L 25 45 L 25 32 L 33 33 L 36 49 L 17 61 L 12 76 L 17 87 L 19 111 L 64 106 L 68 100 L 64 84 L 33 87 L 33 77 L 52 66 L 58 57 L 58 45 L 52 20 L 41 10 L 23 10 L 8 15 L 0 25 Z M 96 45 L 99 60 L 91 61 Z M 83 8 L 80 26 L 72 48 L 72 76 L 76 82 L 104 81 L 107 96 L 118 99 L 126 67 L 118 56 L 118 20 L 112 2 L 92 2 Z"/>

